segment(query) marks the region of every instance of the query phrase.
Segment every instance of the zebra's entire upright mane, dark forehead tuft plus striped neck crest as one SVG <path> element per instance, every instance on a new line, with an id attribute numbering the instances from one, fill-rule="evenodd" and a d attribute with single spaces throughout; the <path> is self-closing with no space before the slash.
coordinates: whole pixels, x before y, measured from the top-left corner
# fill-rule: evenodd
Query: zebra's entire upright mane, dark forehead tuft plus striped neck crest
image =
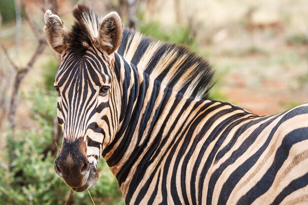
<path id="1" fill-rule="evenodd" d="M 67 48 L 74 55 L 83 56 L 97 38 L 102 18 L 83 4 L 78 4 L 72 13 L 75 22 L 66 39 Z M 205 59 L 184 46 L 154 40 L 125 28 L 117 53 L 162 84 L 187 96 L 209 99 L 214 71 Z"/>

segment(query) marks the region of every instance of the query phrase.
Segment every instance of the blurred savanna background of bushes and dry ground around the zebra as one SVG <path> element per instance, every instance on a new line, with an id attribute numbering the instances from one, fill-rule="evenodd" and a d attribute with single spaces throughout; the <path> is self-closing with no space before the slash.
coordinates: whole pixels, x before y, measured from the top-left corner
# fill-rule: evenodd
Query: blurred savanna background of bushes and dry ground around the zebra
<path id="1" fill-rule="evenodd" d="M 86 3 L 117 11 L 123 24 L 185 44 L 216 69 L 213 99 L 259 115 L 308 102 L 307 0 L 1 0 L 0 204 L 123 205 L 101 160 L 90 193 L 74 193 L 54 172 L 62 133 L 54 77 L 61 62 L 46 44 L 46 9 L 70 28 Z"/>

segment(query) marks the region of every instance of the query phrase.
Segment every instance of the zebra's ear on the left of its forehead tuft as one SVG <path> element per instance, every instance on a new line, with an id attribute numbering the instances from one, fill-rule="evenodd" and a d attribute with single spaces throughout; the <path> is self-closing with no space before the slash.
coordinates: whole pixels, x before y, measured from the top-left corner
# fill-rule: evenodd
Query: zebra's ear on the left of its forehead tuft
<path id="1" fill-rule="evenodd" d="M 62 20 L 56 14 L 53 14 L 49 9 L 44 15 L 45 27 L 44 33 L 48 44 L 55 52 L 62 54 L 65 49 L 65 37 L 67 29 L 64 27 Z"/>

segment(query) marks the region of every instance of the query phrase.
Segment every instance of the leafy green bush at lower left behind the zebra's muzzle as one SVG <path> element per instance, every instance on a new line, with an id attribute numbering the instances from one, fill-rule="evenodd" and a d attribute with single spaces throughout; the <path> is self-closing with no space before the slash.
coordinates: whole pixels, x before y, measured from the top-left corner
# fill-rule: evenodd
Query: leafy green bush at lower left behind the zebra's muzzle
<path id="1" fill-rule="evenodd" d="M 33 119 L 37 125 L 31 130 L 19 130 L 15 140 L 7 136 L 7 146 L 0 162 L 0 205 L 63 205 L 69 187 L 54 171 L 56 156 L 43 151 L 52 142 L 51 119 L 56 116 L 56 93 L 31 93 Z M 59 145 L 61 146 L 61 145 Z M 123 205 L 119 184 L 107 164 L 101 160 L 99 179 L 90 193 L 95 205 Z M 89 205 L 92 200 L 87 191 L 70 191 L 69 205 Z"/>

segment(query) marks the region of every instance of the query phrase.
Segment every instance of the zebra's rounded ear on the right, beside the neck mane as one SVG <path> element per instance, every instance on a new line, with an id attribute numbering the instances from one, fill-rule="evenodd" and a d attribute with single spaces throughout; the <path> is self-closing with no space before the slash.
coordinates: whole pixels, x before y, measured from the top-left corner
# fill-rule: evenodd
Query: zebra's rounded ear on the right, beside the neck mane
<path id="1" fill-rule="evenodd" d="M 111 12 L 103 18 L 99 25 L 95 45 L 108 55 L 114 53 L 120 46 L 123 37 L 123 26 L 117 12 Z"/>

